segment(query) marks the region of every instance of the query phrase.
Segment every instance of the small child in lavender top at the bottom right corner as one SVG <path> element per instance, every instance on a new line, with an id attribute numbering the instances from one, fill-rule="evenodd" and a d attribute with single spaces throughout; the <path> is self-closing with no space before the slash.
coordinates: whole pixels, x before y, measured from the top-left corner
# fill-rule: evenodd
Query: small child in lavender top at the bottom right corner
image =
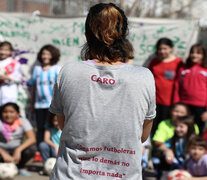
<path id="1" fill-rule="evenodd" d="M 186 167 L 193 177 L 187 180 L 207 179 L 206 145 L 206 141 L 200 136 L 195 136 L 190 140 L 190 159 L 186 163 Z"/>

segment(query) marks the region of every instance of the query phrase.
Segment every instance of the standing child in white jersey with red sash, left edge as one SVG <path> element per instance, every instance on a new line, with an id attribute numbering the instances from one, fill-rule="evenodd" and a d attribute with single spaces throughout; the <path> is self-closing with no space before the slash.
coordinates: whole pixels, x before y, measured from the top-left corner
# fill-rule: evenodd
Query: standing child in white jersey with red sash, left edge
<path id="1" fill-rule="evenodd" d="M 22 74 L 20 64 L 12 58 L 13 47 L 8 41 L 0 43 L 0 106 L 7 102 L 16 102 L 18 83 Z"/>

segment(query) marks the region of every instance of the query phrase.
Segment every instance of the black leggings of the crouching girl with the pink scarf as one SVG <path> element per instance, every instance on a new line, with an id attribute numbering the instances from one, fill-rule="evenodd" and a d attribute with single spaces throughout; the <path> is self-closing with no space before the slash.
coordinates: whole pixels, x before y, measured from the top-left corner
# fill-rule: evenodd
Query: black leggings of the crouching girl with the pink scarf
<path id="1" fill-rule="evenodd" d="M 13 150 L 9 150 L 9 154 L 13 154 L 15 149 Z M 21 153 L 21 160 L 19 162 L 19 164 L 17 164 L 17 167 L 18 168 L 24 168 L 25 167 L 25 164 L 31 159 L 34 157 L 35 153 L 37 151 L 37 147 L 36 145 L 31 145 L 29 146 L 27 149 L 25 149 L 24 151 L 22 151 Z M 2 156 L 0 156 L 0 162 L 4 162 Z"/>

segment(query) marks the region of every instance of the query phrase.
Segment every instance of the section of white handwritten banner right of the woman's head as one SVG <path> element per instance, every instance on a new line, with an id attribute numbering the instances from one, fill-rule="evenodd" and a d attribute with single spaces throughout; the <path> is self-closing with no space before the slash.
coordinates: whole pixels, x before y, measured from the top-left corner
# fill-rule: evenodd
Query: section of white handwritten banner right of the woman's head
<path id="1" fill-rule="evenodd" d="M 130 19 L 129 39 L 135 49 L 135 62 L 143 63 L 155 52 L 155 44 L 162 37 L 174 43 L 174 53 L 185 59 L 191 45 L 196 42 L 198 25 L 196 21 Z"/>

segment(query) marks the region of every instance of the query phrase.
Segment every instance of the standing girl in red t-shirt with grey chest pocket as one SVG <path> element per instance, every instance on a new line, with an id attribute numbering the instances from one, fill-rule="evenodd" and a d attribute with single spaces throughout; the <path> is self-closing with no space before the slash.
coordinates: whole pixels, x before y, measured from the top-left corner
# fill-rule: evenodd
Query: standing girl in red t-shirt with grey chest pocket
<path id="1" fill-rule="evenodd" d="M 157 104 L 157 116 L 153 123 L 152 136 L 159 122 L 169 117 L 175 78 L 181 64 L 182 61 L 173 54 L 173 42 L 168 38 L 159 39 L 156 44 L 156 57 L 149 65 L 155 78 Z"/>

